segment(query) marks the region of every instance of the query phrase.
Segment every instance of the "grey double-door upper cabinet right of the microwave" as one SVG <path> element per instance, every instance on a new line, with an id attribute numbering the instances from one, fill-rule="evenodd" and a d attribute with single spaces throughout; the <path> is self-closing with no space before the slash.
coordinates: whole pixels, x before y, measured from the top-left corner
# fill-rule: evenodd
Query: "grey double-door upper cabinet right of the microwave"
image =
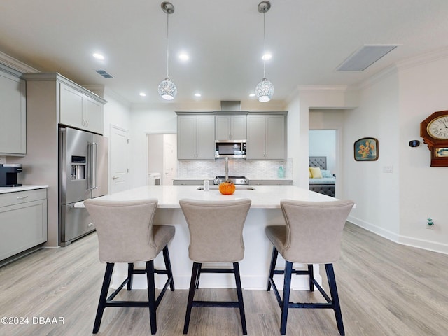
<path id="1" fill-rule="evenodd" d="M 286 112 L 247 116 L 247 159 L 286 160 Z"/>

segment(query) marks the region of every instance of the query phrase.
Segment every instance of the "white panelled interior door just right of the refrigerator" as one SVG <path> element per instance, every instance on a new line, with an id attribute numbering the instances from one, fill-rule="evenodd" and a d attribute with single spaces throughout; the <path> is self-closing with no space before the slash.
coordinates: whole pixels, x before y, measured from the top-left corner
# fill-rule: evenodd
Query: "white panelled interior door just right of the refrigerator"
<path id="1" fill-rule="evenodd" d="M 119 191 L 130 188 L 129 181 L 129 157 L 130 151 L 128 131 L 111 125 L 109 155 L 111 159 L 111 191 Z"/>

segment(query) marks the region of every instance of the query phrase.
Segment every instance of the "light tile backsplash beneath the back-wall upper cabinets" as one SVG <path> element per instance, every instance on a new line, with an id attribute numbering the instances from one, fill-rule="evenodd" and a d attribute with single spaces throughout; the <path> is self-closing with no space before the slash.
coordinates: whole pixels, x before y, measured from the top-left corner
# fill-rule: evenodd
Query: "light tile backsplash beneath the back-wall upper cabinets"
<path id="1" fill-rule="evenodd" d="M 287 160 L 245 160 L 229 159 L 229 176 L 246 176 L 248 179 L 279 179 L 277 172 L 283 166 L 284 179 L 293 179 L 293 158 Z M 225 159 L 179 160 L 177 162 L 178 179 L 194 179 L 225 175 Z"/>

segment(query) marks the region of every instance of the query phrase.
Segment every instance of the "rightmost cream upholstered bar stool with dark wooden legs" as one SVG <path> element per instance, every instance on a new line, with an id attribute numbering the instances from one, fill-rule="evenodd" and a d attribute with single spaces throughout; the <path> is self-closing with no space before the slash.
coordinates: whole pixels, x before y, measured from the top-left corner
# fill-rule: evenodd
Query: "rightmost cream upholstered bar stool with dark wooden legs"
<path id="1" fill-rule="evenodd" d="M 328 308 L 335 311 L 339 334 L 345 335 L 332 263 L 339 260 L 342 230 L 354 202 L 350 200 L 330 202 L 281 200 L 280 204 L 286 225 L 269 225 L 265 228 L 267 237 L 274 245 L 267 291 L 272 286 L 281 308 L 280 333 L 281 335 L 286 334 L 289 308 Z M 286 260 L 283 270 L 275 269 L 279 253 Z M 308 265 L 307 270 L 293 269 L 294 262 Z M 325 290 L 314 279 L 313 264 L 325 264 L 330 295 L 325 293 Z M 284 276 L 283 297 L 280 296 L 274 283 L 276 274 Z M 314 286 L 316 286 L 326 302 L 290 302 L 291 274 L 307 274 L 309 290 L 314 291 Z"/>

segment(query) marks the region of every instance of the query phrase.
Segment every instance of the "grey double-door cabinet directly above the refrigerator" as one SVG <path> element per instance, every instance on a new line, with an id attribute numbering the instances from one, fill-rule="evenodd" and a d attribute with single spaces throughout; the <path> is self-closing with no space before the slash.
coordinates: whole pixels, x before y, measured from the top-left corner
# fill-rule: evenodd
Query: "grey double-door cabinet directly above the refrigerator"
<path id="1" fill-rule="evenodd" d="M 65 83 L 59 85 L 59 123 L 103 134 L 104 103 Z"/>

